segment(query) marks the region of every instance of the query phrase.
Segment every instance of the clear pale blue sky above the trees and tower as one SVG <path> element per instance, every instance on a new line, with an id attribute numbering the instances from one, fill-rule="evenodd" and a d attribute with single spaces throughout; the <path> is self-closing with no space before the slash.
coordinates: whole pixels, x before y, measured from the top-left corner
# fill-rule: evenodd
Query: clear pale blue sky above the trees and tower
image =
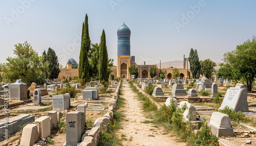
<path id="1" fill-rule="evenodd" d="M 117 58 L 117 29 L 131 29 L 137 64 L 183 60 L 190 48 L 199 59 L 221 62 L 223 54 L 256 34 L 256 1 L 0 1 L 0 62 L 14 45 L 28 41 L 39 55 L 53 48 L 59 63 L 79 62 L 82 22 L 89 17 L 92 43 L 105 30 L 109 58 Z"/>

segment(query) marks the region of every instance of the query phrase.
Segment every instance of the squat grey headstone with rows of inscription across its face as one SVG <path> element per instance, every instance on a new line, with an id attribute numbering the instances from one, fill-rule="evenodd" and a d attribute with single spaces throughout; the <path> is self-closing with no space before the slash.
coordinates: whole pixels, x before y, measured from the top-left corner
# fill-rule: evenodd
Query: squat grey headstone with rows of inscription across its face
<path id="1" fill-rule="evenodd" d="M 64 111 L 69 108 L 68 96 L 56 95 L 52 98 L 52 103 L 54 111 Z"/>

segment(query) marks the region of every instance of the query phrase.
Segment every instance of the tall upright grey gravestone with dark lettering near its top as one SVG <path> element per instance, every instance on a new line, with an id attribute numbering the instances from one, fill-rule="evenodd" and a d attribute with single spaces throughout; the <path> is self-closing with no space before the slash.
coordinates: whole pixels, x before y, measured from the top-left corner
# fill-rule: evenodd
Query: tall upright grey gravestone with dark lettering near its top
<path id="1" fill-rule="evenodd" d="M 77 145 L 81 140 L 81 135 L 81 112 L 68 112 L 66 114 L 66 144 Z"/>

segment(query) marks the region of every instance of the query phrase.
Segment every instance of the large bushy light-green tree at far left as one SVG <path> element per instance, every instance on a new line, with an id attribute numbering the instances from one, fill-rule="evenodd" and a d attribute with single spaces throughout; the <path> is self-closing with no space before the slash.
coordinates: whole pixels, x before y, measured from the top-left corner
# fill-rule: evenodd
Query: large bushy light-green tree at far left
<path id="1" fill-rule="evenodd" d="M 14 46 L 14 58 L 8 57 L 3 66 L 5 72 L 3 81 L 10 83 L 22 79 L 22 82 L 28 85 L 32 82 L 42 84 L 46 78 L 45 71 L 49 63 L 44 61 L 43 56 L 38 56 L 38 53 L 32 49 L 27 41 Z"/>

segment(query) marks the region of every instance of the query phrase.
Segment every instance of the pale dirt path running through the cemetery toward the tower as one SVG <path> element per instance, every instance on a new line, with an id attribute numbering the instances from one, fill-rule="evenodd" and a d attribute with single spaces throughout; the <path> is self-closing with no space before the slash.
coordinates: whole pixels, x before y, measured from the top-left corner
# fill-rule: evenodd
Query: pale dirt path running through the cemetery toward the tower
<path id="1" fill-rule="evenodd" d="M 122 128 L 118 130 L 117 135 L 120 138 L 121 134 L 126 135 L 127 141 L 122 140 L 123 145 L 186 145 L 186 143 L 176 142 L 176 137 L 170 137 L 170 134 L 161 127 L 155 128 L 151 123 L 141 123 L 150 119 L 145 118 L 141 101 L 137 100 L 137 94 L 132 91 L 127 82 L 123 82 L 122 93 L 122 98 L 126 99 L 122 109 L 125 111 L 125 120 L 122 121 Z M 153 135 L 155 137 L 152 137 Z M 130 141 L 131 136 L 133 138 Z"/>

